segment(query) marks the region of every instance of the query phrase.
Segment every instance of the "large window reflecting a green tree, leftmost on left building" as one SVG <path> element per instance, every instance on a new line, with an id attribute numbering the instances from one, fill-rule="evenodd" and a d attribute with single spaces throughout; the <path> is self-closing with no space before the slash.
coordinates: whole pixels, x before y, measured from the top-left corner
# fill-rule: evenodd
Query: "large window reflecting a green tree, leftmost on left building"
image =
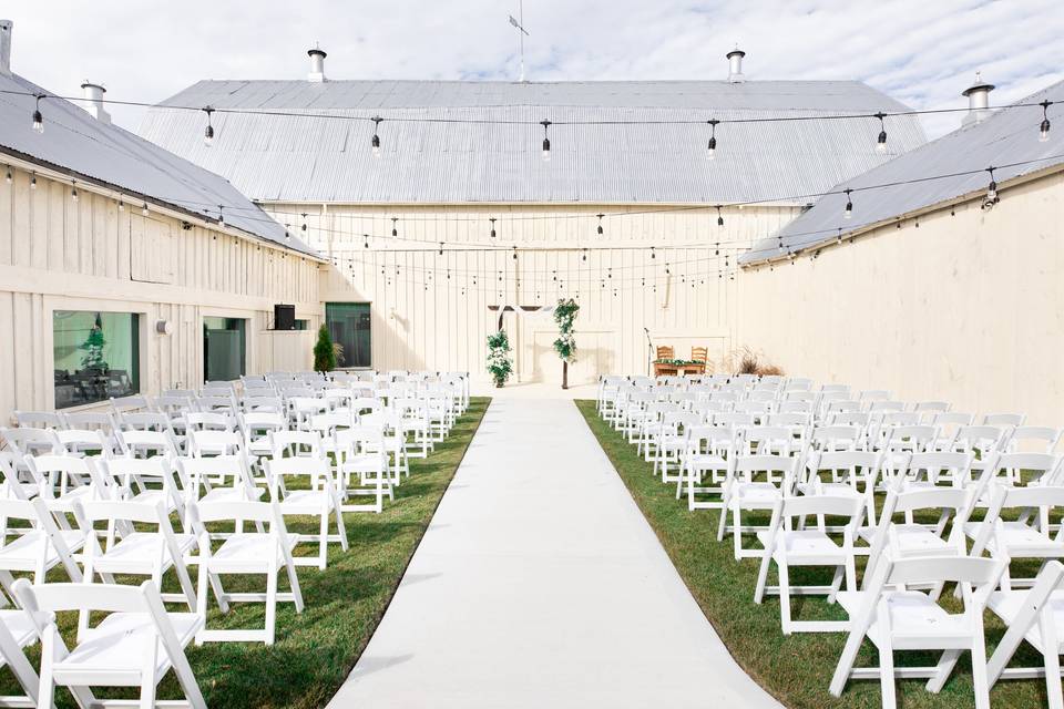
<path id="1" fill-rule="evenodd" d="M 55 310 L 52 361 L 55 408 L 127 397 L 141 390 L 140 317 L 132 312 Z"/>

